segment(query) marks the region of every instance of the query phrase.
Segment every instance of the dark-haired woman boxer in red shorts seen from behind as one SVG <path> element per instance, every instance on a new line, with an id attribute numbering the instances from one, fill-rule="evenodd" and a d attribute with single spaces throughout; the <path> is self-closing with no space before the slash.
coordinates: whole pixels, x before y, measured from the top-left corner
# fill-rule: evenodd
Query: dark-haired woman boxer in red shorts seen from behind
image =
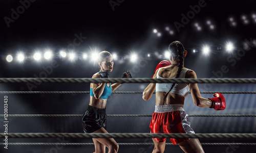
<path id="1" fill-rule="evenodd" d="M 187 51 L 179 41 L 169 44 L 171 65 L 156 70 L 153 78 L 197 78 L 195 71 L 184 67 Z M 159 63 L 160 64 L 160 63 Z M 224 110 L 225 98 L 215 93 L 213 98 L 203 98 L 197 84 L 182 83 L 151 83 L 143 91 L 143 99 L 151 98 L 156 90 L 156 106 L 150 123 L 151 133 L 195 133 L 187 121 L 188 115 L 183 109 L 185 97 L 190 91 L 194 104 L 198 107 L 210 107 Z M 164 152 L 166 138 L 153 138 L 155 148 L 153 152 Z M 170 138 L 173 144 L 179 144 L 185 152 L 204 152 L 198 139 Z"/>

